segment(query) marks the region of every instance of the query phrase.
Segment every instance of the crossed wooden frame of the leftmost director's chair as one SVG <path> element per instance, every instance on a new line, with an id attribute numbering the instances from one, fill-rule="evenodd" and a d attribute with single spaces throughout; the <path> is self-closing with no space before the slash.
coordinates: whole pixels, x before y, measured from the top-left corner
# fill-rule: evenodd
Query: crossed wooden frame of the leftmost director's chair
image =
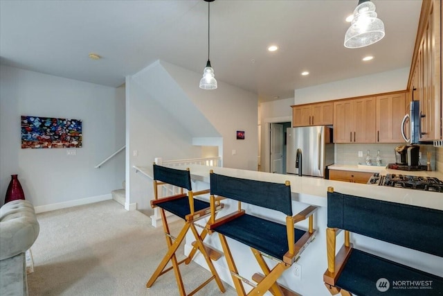
<path id="1" fill-rule="evenodd" d="M 187 171 L 189 171 L 189 168 L 187 168 Z M 208 235 L 208 229 L 206 229 L 206 227 L 204 227 L 203 231 L 199 234 L 199 232 L 197 232 L 197 229 L 195 227 L 195 222 L 197 220 L 200 220 L 202 218 L 209 216 L 211 214 L 211 211 L 210 211 L 210 207 L 205 208 L 205 209 L 201 209 L 199 211 L 195 211 L 194 197 L 196 195 L 203 195 L 203 194 L 209 193 L 210 192 L 209 189 L 206 189 L 203 191 L 197 191 L 197 192 L 192 192 L 192 190 L 188 190 L 187 192 L 185 192 L 183 188 L 180 188 L 179 194 L 159 198 L 159 187 L 163 186 L 165 184 L 169 184 L 169 183 L 161 182 L 159 180 L 154 180 L 154 200 L 151 200 L 151 207 L 152 208 L 159 207 L 159 209 L 160 209 L 161 220 L 163 223 L 163 230 L 165 233 L 166 243 L 168 245 L 168 252 L 165 254 L 165 256 L 163 257 L 163 260 L 157 266 L 156 270 L 154 271 L 154 274 L 147 281 L 146 288 L 152 287 L 152 285 L 154 284 L 156 279 L 158 279 L 161 275 L 164 275 L 166 272 L 168 272 L 170 270 L 174 270 L 174 275 L 175 275 L 175 278 L 177 281 L 177 286 L 179 288 L 179 293 L 181 296 L 194 295 L 195 293 L 197 293 L 197 291 L 199 291 L 201 288 L 206 286 L 206 284 L 208 284 L 213 279 L 215 279 L 217 286 L 219 287 L 219 290 L 221 291 L 221 293 L 224 293 L 226 290 L 225 290 L 225 288 L 221 282 L 221 279 L 219 278 L 219 275 L 217 274 L 217 270 L 215 270 L 215 267 L 212 262 L 212 260 L 219 259 L 221 254 L 219 254 L 218 252 L 216 252 L 212 248 L 208 247 L 208 245 L 204 244 L 203 241 L 206 238 L 206 236 Z M 188 198 L 188 202 L 190 205 L 190 214 L 186 215 L 185 224 L 183 225 L 183 228 L 179 232 L 177 238 L 174 238 L 174 236 L 172 236 L 170 234 L 170 228 L 168 226 L 168 220 L 166 218 L 165 209 L 163 209 L 161 207 L 161 204 L 162 204 L 162 202 L 179 200 L 181 198 Z M 215 205 L 215 209 L 214 209 L 215 213 L 217 213 L 222 208 L 223 208 L 223 204 L 218 202 Z M 188 256 L 186 256 L 186 258 L 181 261 L 177 261 L 177 256 L 175 253 L 177 252 L 177 249 L 179 248 L 179 246 L 183 242 L 184 238 L 186 237 L 186 234 L 188 233 L 189 229 L 191 230 L 192 234 L 195 237 L 195 242 L 192 243 L 192 250 L 190 251 Z M 201 284 L 200 286 L 195 288 L 195 290 L 192 290 L 192 292 L 190 292 L 189 294 L 186 294 L 183 280 L 181 278 L 181 272 L 179 269 L 179 265 L 181 263 L 185 263 L 186 265 L 188 265 L 190 263 L 190 261 L 192 261 L 192 258 L 195 256 L 195 254 L 197 254 L 197 251 L 200 251 L 201 254 L 204 256 L 204 259 L 205 259 L 206 263 L 208 264 L 208 268 L 209 268 L 210 272 L 212 273 L 212 276 L 209 279 L 207 279 L 206 281 L 204 281 L 203 284 Z M 167 268 L 166 265 L 168 265 L 168 263 L 170 261 L 172 263 L 172 266 Z"/>

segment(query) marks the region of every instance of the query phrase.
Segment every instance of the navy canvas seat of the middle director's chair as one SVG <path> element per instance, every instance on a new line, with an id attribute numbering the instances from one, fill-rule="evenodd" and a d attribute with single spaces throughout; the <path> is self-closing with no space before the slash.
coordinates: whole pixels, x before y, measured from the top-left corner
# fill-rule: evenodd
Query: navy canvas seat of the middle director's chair
<path id="1" fill-rule="evenodd" d="M 286 225 L 244 214 L 213 229 L 219 234 L 253 247 L 264 254 L 283 260 L 288 249 Z M 294 228 L 296 243 L 306 232 Z"/>

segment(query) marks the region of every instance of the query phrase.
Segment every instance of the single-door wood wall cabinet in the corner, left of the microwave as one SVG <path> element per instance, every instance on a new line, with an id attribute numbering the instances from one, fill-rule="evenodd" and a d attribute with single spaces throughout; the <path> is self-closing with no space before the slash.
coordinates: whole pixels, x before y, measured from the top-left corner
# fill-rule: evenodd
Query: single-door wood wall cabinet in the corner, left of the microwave
<path id="1" fill-rule="evenodd" d="M 377 143 L 402 143 L 401 121 L 406 114 L 406 94 L 377 96 Z"/>

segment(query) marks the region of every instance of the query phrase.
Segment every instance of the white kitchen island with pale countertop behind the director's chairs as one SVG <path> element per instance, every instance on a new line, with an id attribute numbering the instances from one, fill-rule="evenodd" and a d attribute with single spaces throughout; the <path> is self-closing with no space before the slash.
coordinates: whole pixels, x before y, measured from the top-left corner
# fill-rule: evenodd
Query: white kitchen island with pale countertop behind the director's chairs
<path id="1" fill-rule="evenodd" d="M 442 193 L 399 189 L 386 186 L 374 186 L 370 184 L 338 182 L 315 177 L 299 177 L 297 175 L 262 173 L 234 168 L 219 168 L 199 165 L 188 165 L 183 167 L 178 166 L 175 168 L 185 169 L 186 167 L 190 168 L 192 188 L 195 191 L 209 188 L 209 171 L 212 169 L 215 173 L 219 173 L 221 175 L 230 175 L 245 179 L 279 183 L 284 183 L 284 181 L 289 180 L 289 182 L 291 182 L 294 214 L 307 207 L 308 204 L 318 207 L 316 214 L 314 214 L 316 239 L 307 246 L 307 249 L 302 253 L 300 260 L 297 262 L 299 273 L 296 275 L 296 266 L 293 265 L 286 272 L 284 272 L 284 275 L 279 279 L 280 284 L 287 286 L 291 290 L 294 290 L 301 295 L 330 295 L 323 284 L 323 272 L 325 272 L 327 268 L 325 230 L 327 228 L 328 186 L 334 187 L 334 191 L 338 191 L 340 193 L 443 210 Z M 149 168 L 147 168 L 147 170 L 149 171 Z M 223 210 L 224 213 L 220 213 L 219 215 L 221 216 L 229 213 L 232 211 L 231 207 L 235 207 L 235 205 L 226 204 Z M 284 215 L 276 211 L 257 211 L 257 209 L 254 207 L 247 208 L 246 211 L 251 211 L 251 213 L 255 215 L 266 216 L 271 220 L 284 223 Z M 200 223 L 204 224 L 204 221 L 200 221 Z M 307 223 L 300 223 L 297 225 L 300 228 L 307 228 Z M 404 229 L 404 231 L 407 232 L 408 229 Z M 338 235 L 337 244 L 340 245 L 342 241 L 343 232 Z M 382 241 L 377 241 L 365 236 L 359 236 L 358 234 L 353 234 L 351 236 L 351 241 L 355 246 L 359 246 L 360 249 L 365 250 L 366 252 L 371 252 L 372 254 L 383 256 L 387 259 L 395 260 L 399 263 L 410 265 L 413 268 L 418 268 L 420 270 L 431 272 L 435 275 L 443 277 L 443 270 L 441 268 L 441 266 L 443 266 L 443 259 L 438 256 L 410 250 Z M 215 247 L 217 250 L 222 250 L 217 235 L 212 235 L 206 238 L 205 242 L 208 243 L 208 245 Z M 192 235 L 189 235 L 186 239 L 186 253 L 190 252 L 192 247 L 191 243 Z M 442 244 L 442 242 L 435 243 Z M 232 241 L 232 243 L 230 242 L 230 245 L 232 245 L 231 251 L 233 252 L 233 257 L 240 273 L 251 279 L 253 273 L 259 270 L 251 251 L 248 249 L 248 247 L 242 245 L 241 243 L 237 243 L 236 241 Z M 401 254 L 401 256 L 399 256 L 399 254 Z M 408 258 L 408 261 L 401 261 L 402 259 L 399 259 L 400 257 L 403 258 L 403 260 L 404 258 Z M 206 268 L 206 263 L 201 255 L 196 256 L 195 262 Z M 221 257 L 221 259 L 215 261 L 214 265 L 217 272 L 219 272 L 221 279 L 233 286 L 224 257 Z M 270 265 L 272 265 L 272 263 L 270 263 Z M 389 277 L 389 275 L 386 275 L 386 277 Z M 246 286 L 245 288 L 247 290 L 248 287 Z"/>

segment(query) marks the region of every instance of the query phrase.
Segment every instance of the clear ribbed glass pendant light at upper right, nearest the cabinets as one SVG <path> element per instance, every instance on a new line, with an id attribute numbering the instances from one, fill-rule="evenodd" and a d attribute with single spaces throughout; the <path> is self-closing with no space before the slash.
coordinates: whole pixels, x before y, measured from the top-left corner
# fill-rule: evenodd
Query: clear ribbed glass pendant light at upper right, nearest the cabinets
<path id="1" fill-rule="evenodd" d="M 385 36 L 385 26 L 377 18 L 375 5 L 370 0 L 359 0 L 354 10 L 354 19 L 345 35 L 345 47 L 358 49 L 378 42 Z"/>

